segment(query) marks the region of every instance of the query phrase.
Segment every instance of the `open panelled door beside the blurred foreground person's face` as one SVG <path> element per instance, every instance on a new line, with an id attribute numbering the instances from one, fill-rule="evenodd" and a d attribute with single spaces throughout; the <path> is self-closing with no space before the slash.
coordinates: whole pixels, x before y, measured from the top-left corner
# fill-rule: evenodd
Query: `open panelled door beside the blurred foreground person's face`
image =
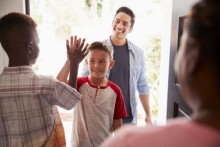
<path id="1" fill-rule="evenodd" d="M 174 60 L 178 52 L 179 41 L 182 35 L 183 22 L 191 6 L 198 0 L 173 0 L 172 22 L 171 22 L 171 43 L 170 43 L 170 63 L 168 79 L 168 101 L 167 119 L 175 117 L 189 117 L 190 108 L 186 105 L 178 90 L 178 83 L 174 73 Z"/>

